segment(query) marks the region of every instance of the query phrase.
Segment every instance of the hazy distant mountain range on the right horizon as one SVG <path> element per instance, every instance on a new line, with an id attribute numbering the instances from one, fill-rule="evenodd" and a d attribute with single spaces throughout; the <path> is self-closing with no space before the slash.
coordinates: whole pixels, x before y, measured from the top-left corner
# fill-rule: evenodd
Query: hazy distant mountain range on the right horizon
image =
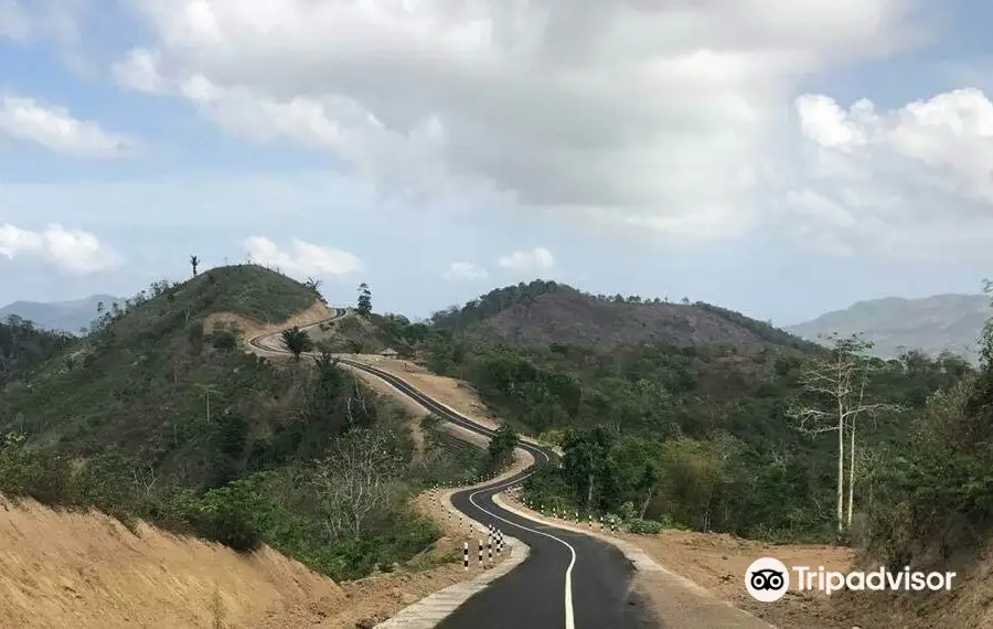
<path id="1" fill-rule="evenodd" d="M 886 297 L 858 301 L 783 329 L 811 341 L 816 341 L 818 334 L 862 332 L 863 338 L 875 342 L 873 352 L 885 359 L 897 358 L 907 350 L 930 355 L 947 350 L 974 362 L 980 333 L 991 316 L 993 309 L 985 295 Z"/>

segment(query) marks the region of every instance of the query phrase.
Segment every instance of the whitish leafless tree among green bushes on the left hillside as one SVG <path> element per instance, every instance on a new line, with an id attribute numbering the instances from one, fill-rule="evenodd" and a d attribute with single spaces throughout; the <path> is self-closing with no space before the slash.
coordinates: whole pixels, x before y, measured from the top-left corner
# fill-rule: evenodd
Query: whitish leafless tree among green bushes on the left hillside
<path id="1" fill-rule="evenodd" d="M 393 437 L 382 430 L 355 429 L 335 441 L 312 481 L 331 536 L 361 540 L 371 518 L 397 498 L 401 461 Z"/>

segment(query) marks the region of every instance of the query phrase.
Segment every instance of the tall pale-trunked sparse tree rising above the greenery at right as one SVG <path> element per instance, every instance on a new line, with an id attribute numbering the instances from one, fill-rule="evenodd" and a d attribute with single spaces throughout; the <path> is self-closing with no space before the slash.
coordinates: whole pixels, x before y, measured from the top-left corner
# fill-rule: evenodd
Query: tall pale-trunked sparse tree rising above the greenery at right
<path id="1" fill-rule="evenodd" d="M 826 359 L 808 364 L 800 384 L 810 403 L 792 401 L 787 416 L 797 422 L 797 429 L 809 435 L 837 433 L 837 532 L 844 533 L 852 523 L 855 487 L 855 427 L 862 415 L 900 411 L 895 404 L 866 401 L 867 385 L 876 366 L 867 355 L 873 343 L 836 333 L 828 337 L 834 347 Z M 826 409 L 825 409 L 826 408 Z M 845 436 L 848 436 L 848 509 L 845 515 Z"/>

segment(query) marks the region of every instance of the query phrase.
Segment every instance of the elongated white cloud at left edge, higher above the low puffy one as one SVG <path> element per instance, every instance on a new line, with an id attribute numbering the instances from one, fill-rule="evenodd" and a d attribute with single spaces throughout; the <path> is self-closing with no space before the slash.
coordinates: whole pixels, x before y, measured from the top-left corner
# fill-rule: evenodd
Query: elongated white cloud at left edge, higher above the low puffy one
<path id="1" fill-rule="evenodd" d="M 126 157 L 141 147 L 134 138 L 74 118 L 65 107 L 19 96 L 0 96 L 0 136 L 77 157 Z"/>

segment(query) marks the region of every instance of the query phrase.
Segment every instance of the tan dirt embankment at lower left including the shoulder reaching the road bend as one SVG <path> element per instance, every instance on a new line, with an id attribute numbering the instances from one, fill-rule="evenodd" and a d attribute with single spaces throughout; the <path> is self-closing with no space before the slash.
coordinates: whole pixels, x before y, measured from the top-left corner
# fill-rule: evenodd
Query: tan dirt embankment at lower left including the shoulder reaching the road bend
<path id="1" fill-rule="evenodd" d="M 147 524 L 136 533 L 107 515 L 65 513 L 0 499 L 0 627 L 25 629 L 224 627 L 354 629 L 381 621 L 485 569 L 433 565 L 474 548 L 479 533 L 442 515 L 434 497 L 417 508 L 448 531 L 396 574 L 335 584 L 264 546 L 241 555 Z"/>

